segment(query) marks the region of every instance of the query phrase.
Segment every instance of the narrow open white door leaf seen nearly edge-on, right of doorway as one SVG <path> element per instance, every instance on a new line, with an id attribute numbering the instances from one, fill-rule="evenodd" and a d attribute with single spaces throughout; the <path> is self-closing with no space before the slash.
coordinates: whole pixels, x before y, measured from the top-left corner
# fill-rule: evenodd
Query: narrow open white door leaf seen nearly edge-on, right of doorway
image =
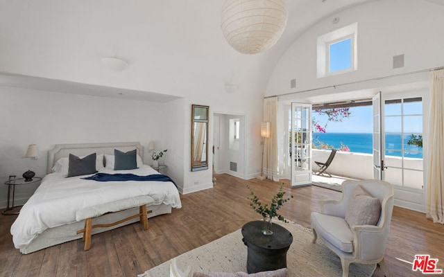
<path id="1" fill-rule="evenodd" d="M 381 93 L 373 97 L 373 178 L 382 180 L 384 168 L 381 168 Z"/>

